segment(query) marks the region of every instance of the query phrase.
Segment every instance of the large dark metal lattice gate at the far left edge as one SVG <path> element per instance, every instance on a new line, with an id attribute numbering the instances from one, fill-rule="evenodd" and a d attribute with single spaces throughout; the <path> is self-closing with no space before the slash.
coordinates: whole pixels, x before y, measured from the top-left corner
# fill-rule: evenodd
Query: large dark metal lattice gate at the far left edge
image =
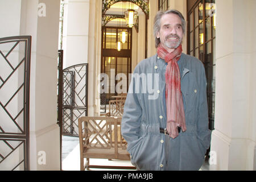
<path id="1" fill-rule="evenodd" d="M 31 36 L 0 38 L 0 170 L 29 170 Z"/>

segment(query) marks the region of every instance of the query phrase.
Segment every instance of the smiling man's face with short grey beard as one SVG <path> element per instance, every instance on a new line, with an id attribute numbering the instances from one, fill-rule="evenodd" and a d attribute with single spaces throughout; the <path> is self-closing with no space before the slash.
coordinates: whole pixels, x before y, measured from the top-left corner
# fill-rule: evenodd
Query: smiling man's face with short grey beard
<path id="1" fill-rule="evenodd" d="M 172 13 L 163 15 L 160 20 L 160 31 L 157 32 L 156 38 L 160 38 L 160 42 L 168 52 L 174 51 L 183 39 L 180 17 Z"/>

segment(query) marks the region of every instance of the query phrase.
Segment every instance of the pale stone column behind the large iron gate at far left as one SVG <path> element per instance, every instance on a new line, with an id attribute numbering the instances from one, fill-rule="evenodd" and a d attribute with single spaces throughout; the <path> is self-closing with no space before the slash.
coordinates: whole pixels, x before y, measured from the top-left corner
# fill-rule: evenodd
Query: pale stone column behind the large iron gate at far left
<path id="1" fill-rule="evenodd" d="M 0 1 L 0 23 L 1 27 L 5 27 L 0 28 L 0 38 L 19 35 L 20 10 L 21 1 Z M 6 55 L 10 51 L 10 48 L 12 46 L 14 46 L 14 43 L 0 44 L 0 50 L 4 55 Z M 19 46 L 16 46 L 16 48 L 9 54 L 7 59 L 9 59 L 12 65 L 18 65 L 19 61 L 22 59 L 20 55 L 22 55 L 22 57 L 24 56 L 23 52 L 24 51 L 20 50 Z M 6 63 L 2 56 L 0 56 L 0 58 L 0 76 L 3 80 L 6 80 L 6 78 L 13 70 L 11 69 L 10 65 Z M 23 83 L 23 69 L 24 68 L 19 67 L 19 69 L 15 71 L 15 73 L 9 78 L 9 81 L 7 81 L 4 85 L 2 85 L 2 81 L 0 82 L 2 86 L 0 89 L 0 98 L 3 105 L 7 104 L 15 91 L 18 90 L 19 86 Z M 11 113 L 11 115 L 14 115 L 15 117 L 15 115 L 17 115 L 20 109 L 23 107 L 23 92 L 19 92 L 6 107 L 9 113 Z M 23 118 L 21 118 L 21 120 L 22 122 L 19 122 L 19 118 L 17 118 L 15 121 L 23 129 Z M 7 115 L 7 113 L 2 109 L 2 106 L 0 106 L 0 126 L 5 132 L 20 132 L 14 122 L 11 121 L 9 115 Z M 10 147 L 2 141 L 0 143 L 0 148 L 1 154 L 3 156 L 6 156 L 7 154 L 9 154 L 9 152 L 11 152 Z M 19 163 L 19 161 L 24 158 L 23 156 L 19 156 L 20 154 L 23 154 L 23 146 L 18 147 L 11 155 L 9 155 L 9 157 L 7 157 L 5 160 L 3 160 L 3 162 L 0 163 L 0 170 L 8 171 L 13 169 Z M 16 170 L 22 169 L 23 164 L 16 168 Z"/>

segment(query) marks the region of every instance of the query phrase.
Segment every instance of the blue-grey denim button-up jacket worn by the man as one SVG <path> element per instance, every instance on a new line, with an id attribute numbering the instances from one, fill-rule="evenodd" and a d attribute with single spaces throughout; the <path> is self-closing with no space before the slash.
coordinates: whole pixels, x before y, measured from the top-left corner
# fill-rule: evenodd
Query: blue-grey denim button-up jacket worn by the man
<path id="1" fill-rule="evenodd" d="M 121 128 L 131 163 L 139 170 L 198 170 L 204 162 L 211 137 L 205 69 L 200 60 L 184 53 L 178 65 L 187 131 L 175 139 L 159 131 L 166 127 L 167 63 L 154 55 L 134 69 L 137 79 L 130 82 Z"/>

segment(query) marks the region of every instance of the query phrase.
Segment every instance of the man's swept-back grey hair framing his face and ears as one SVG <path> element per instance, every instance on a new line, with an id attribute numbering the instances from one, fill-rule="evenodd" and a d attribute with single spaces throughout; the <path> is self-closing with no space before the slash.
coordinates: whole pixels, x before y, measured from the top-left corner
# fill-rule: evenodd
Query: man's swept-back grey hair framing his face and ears
<path id="1" fill-rule="evenodd" d="M 185 19 L 184 19 L 184 16 L 180 13 L 180 11 L 178 10 L 167 10 L 165 12 L 163 11 L 158 11 L 158 13 L 155 15 L 155 18 L 154 18 L 154 37 L 155 37 L 155 47 L 157 48 L 158 47 L 158 44 L 160 43 L 160 38 L 156 38 L 156 34 L 157 32 L 160 31 L 160 20 L 162 18 L 163 15 L 165 14 L 176 14 L 180 17 L 181 19 L 181 27 L 182 27 L 182 31 L 183 31 L 183 35 L 185 34 L 185 31 L 186 31 L 186 22 L 185 22 Z"/>

